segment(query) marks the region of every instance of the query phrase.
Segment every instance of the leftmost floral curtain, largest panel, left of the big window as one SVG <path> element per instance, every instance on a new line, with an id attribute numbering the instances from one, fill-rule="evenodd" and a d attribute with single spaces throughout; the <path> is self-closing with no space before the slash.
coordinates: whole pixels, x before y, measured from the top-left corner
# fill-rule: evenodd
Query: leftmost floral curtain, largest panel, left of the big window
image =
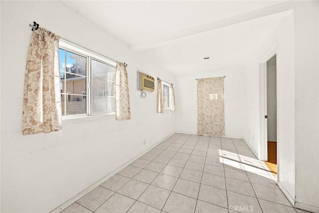
<path id="1" fill-rule="evenodd" d="M 24 74 L 23 135 L 62 129 L 59 39 L 43 28 L 33 32 Z"/>

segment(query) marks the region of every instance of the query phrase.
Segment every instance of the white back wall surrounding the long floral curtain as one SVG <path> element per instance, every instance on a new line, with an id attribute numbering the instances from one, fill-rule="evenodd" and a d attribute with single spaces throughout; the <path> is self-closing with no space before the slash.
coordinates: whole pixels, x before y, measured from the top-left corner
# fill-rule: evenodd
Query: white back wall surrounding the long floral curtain
<path id="1" fill-rule="evenodd" d="M 243 67 L 176 77 L 176 132 L 197 134 L 196 78 L 224 78 L 225 136 L 242 138 L 244 122 Z"/>

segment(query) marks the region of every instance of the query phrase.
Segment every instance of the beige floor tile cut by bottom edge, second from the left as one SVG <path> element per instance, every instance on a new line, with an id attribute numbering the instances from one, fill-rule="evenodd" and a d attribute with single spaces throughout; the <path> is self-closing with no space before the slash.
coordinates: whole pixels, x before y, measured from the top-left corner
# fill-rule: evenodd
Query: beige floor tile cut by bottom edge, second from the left
<path id="1" fill-rule="evenodd" d="M 107 202 L 105 202 L 95 213 L 125 213 L 135 200 L 115 193 Z"/>

